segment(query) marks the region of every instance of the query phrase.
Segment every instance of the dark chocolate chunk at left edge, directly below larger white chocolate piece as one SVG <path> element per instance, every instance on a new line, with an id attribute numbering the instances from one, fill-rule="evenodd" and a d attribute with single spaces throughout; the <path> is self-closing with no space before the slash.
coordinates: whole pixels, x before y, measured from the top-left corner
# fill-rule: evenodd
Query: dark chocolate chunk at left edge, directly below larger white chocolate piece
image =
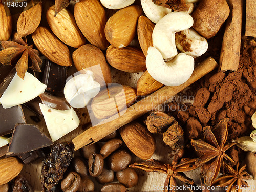
<path id="1" fill-rule="evenodd" d="M 0 136 L 12 133 L 16 123 L 26 123 L 22 106 L 4 109 L 0 105 Z"/>

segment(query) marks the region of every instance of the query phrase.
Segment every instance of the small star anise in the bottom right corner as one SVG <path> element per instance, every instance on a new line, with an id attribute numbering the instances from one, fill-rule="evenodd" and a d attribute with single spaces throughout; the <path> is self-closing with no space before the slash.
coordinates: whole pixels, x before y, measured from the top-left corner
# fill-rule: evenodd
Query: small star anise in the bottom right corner
<path id="1" fill-rule="evenodd" d="M 239 162 L 236 165 L 236 170 L 229 164 L 225 163 L 225 170 L 228 174 L 216 179 L 212 186 L 224 187 L 226 192 L 236 190 L 242 192 L 242 188 L 248 187 L 244 179 L 250 179 L 249 174 L 245 170 L 246 165 L 239 168 Z"/>

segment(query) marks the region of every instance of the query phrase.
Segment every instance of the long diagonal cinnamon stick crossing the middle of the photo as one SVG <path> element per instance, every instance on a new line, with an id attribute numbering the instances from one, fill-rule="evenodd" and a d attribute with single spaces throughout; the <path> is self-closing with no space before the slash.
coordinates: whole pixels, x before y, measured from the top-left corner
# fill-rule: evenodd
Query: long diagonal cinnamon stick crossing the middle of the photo
<path id="1" fill-rule="evenodd" d="M 79 148 L 92 144 L 94 142 L 99 141 L 103 137 L 109 135 L 113 131 L 119 129 L 121 126 L 130 123 L 131 121 L 137 119 L 138 117 L 144 115 L 148 111 L 153 110 L 157 105 L 163 103 L 164 101 L 168 100 L 169 98 L 173 97 L 190 84 L 194 83 L 210 71 L 217 68 L 218 64 L 214 60 L 214 58 L 209 57 L 199 65 L 195 67 L 195 70 L 191 77 L 180 86 L 164 86 L 163 88 L 159 89 L 158 91 L 152 93 L 148 97 L 142 99 L 141 101 L 135 103 L 134 105 L 130 106 L 127 111 L 120 116 L 110 122 L 95 125 L 88 130 L 84 131 L 77 137 L 75 137 L 72 141 L 75 145 L 75 150 Z"/>

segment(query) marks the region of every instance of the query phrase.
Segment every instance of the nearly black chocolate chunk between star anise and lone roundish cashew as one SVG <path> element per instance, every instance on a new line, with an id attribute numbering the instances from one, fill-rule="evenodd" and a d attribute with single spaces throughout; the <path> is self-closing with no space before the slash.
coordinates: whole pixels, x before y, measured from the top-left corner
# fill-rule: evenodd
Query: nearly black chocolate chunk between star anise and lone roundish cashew
<path id="1" fill-rule="evenodd" d="M 46 91 L 52 94 L 63 93 L 67 78 L 67 67 L 57 65 L 49 60 L 44 60 L 44 63 L 41 82 L 47 85 Z"/>

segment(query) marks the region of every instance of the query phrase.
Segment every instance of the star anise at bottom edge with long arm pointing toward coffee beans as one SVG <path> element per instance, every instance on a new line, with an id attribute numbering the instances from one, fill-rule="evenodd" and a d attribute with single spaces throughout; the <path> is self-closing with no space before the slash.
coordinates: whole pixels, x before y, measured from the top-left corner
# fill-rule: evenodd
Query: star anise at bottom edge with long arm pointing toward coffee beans
<path id="1" fill-rule="evenodd" d="M 163 191 L 172 192 L 176 191 L 176 179 L 184 183 L 189 183 L 190 185 L 194 184 L 194 181 L 188 178 L 183 172 L 196 169 L 197 167 L 194 164 L 195 161 L 196 159 L 183 158 L 178 164 L 176 161 L 174 161 L 173 164 L 164 164 L 158 160 L 150 159 L 142 163 L 134 163 L 129 167 L 138 168 L 145 172 L 161 172 L 167 174 Z"/>

